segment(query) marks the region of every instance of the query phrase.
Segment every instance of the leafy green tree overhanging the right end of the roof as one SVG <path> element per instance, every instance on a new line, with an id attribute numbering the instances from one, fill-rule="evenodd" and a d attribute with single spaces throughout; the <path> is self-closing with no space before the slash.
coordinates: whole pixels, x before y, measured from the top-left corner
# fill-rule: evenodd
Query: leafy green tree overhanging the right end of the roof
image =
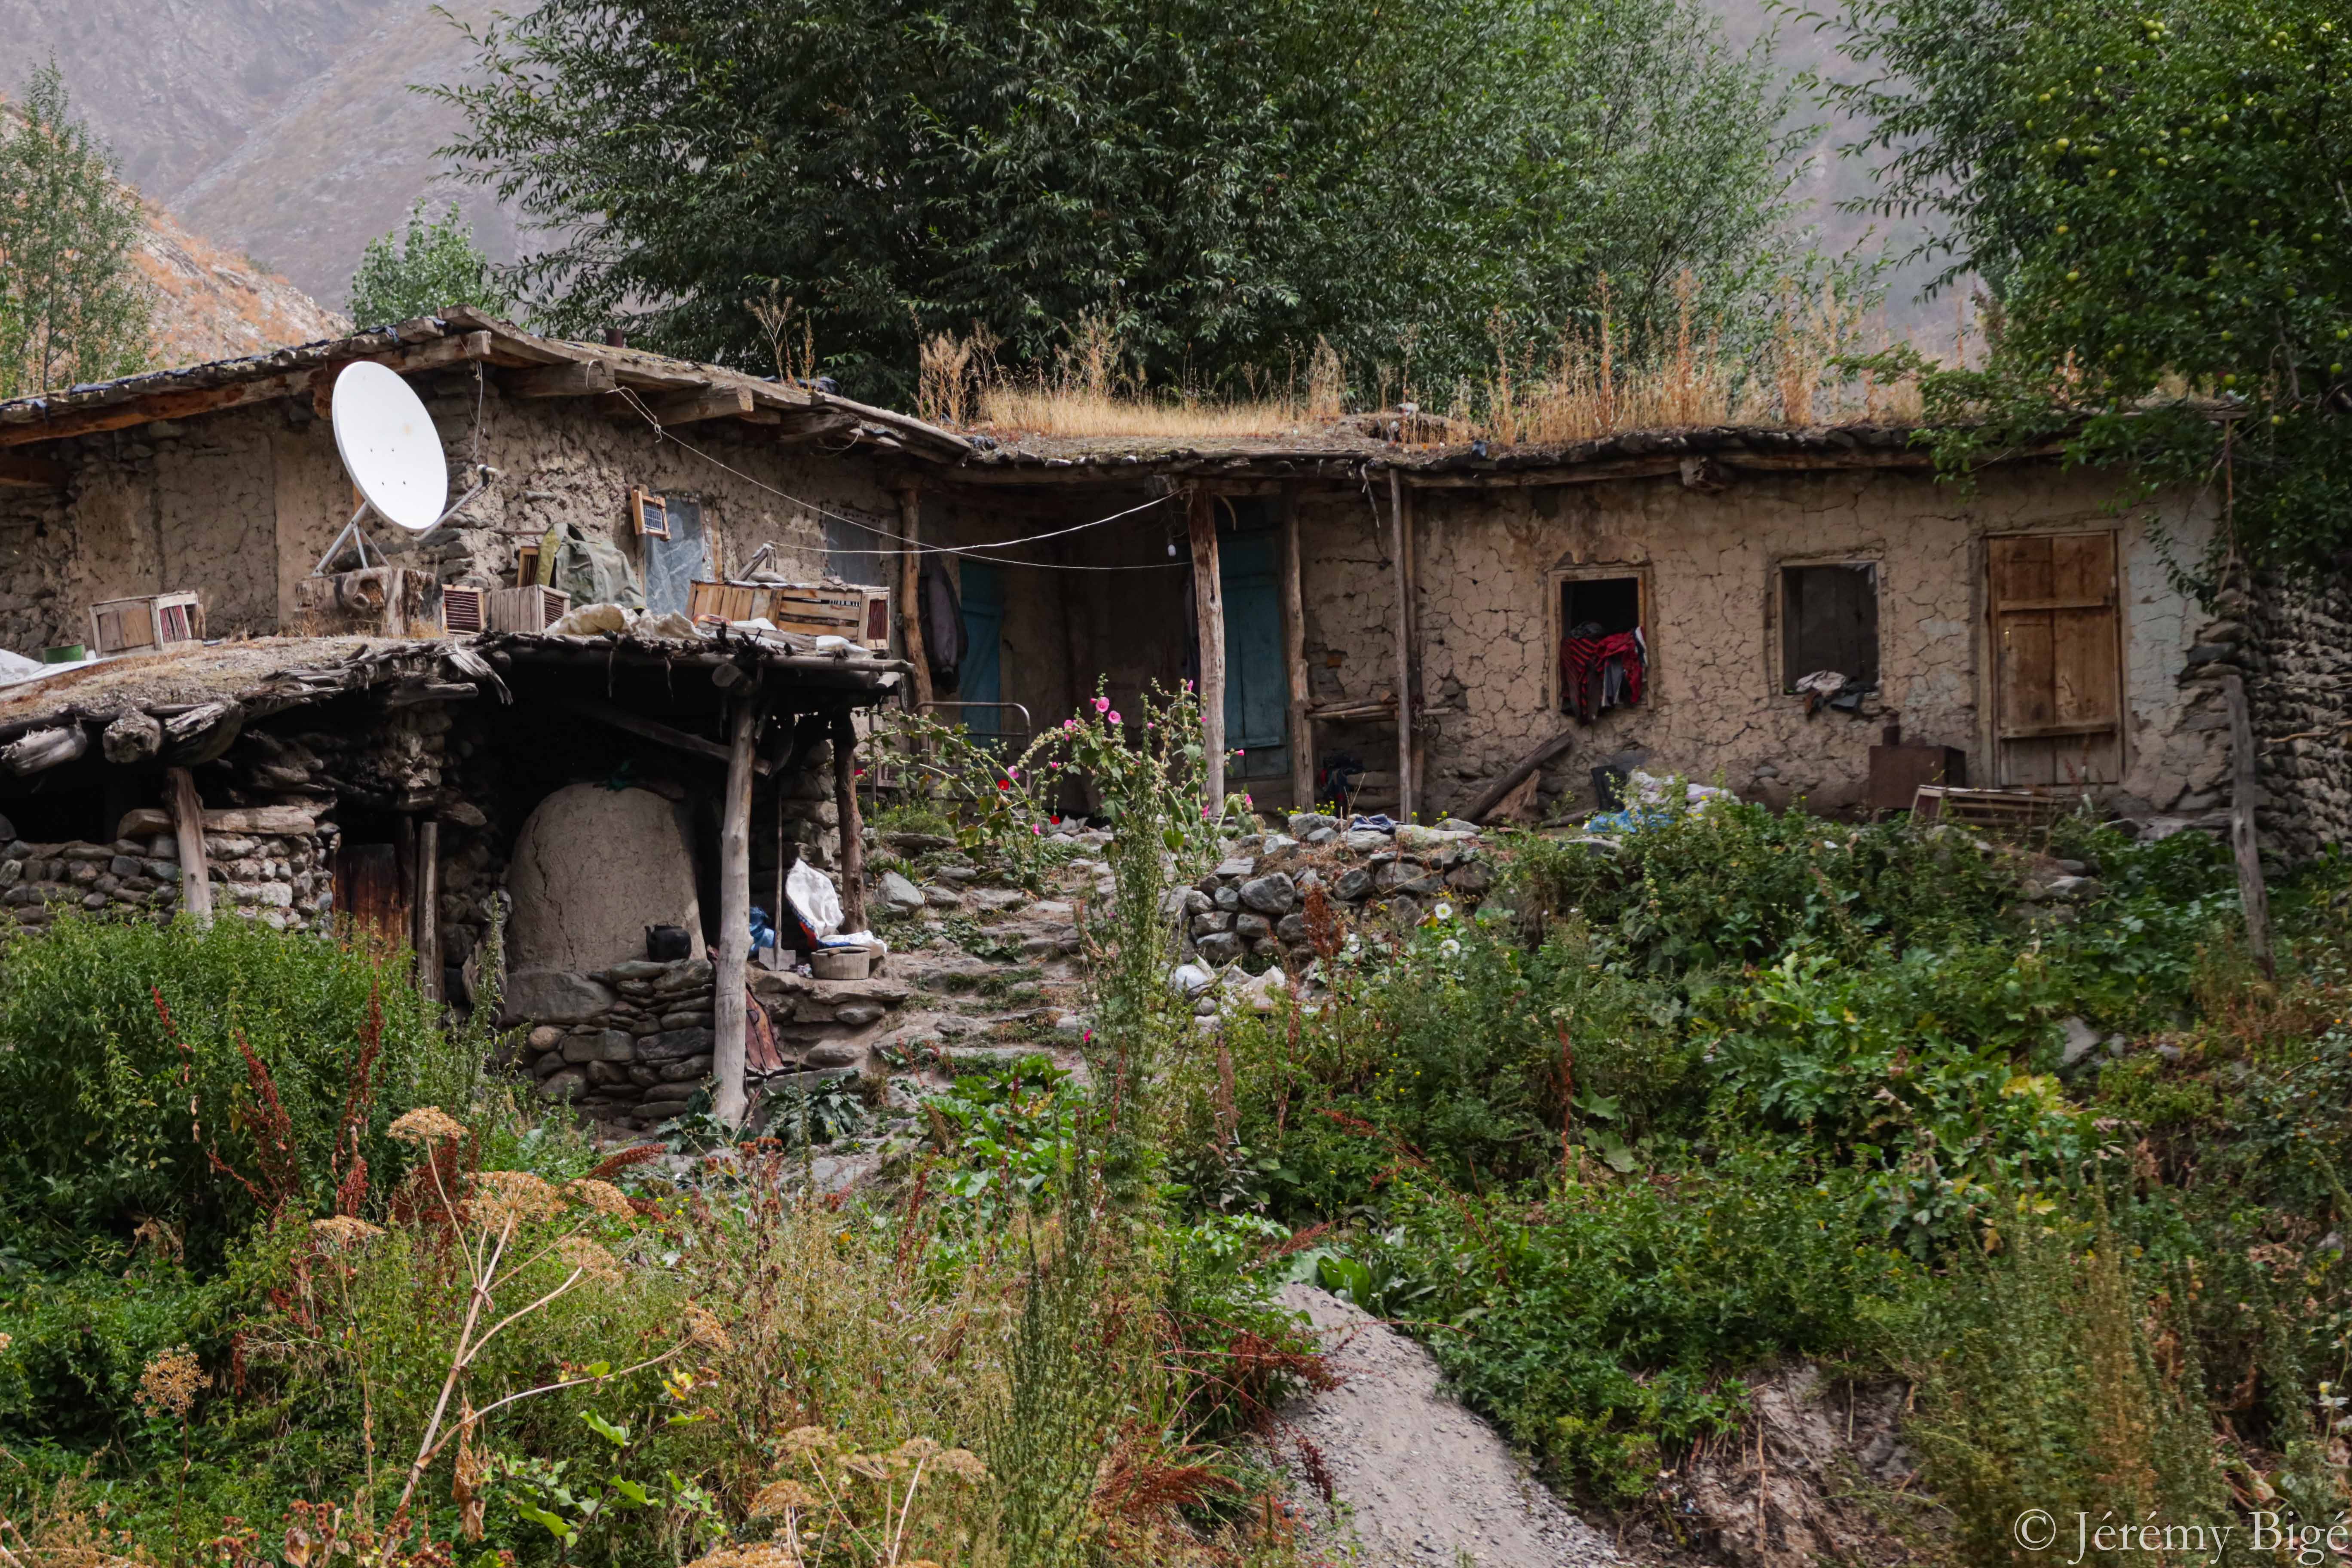
<path id="1" fill-rule="evenodd" d="M 1950 465 L 2065 435 L 2230 498 L 2209 567 L 2352 548 L 2343 0 L 1849 0 L 1835 89 L 1889 212 L 1940 209 L 2002 331 L 1929 378 Z"/>

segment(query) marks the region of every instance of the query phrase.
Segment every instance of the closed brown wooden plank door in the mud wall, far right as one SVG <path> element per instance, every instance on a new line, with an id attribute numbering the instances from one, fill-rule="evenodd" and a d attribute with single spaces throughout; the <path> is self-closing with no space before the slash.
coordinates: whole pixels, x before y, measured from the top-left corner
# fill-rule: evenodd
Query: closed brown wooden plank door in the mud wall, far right
<path id="1" fill-rule="evenodd" d="M 2124 776 L 2114 534 L 1985 541 L 1997 778 L 2077 788 Z"/>

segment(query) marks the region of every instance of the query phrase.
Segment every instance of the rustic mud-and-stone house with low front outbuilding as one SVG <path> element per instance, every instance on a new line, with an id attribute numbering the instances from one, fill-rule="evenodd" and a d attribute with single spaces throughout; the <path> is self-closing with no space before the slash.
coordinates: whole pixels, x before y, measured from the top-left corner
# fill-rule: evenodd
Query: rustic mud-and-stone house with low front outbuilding
<path id="1" fill-rule="evenodd" d="M 320 576 L 346 564 L 322 557 L 350 517 L 325 416 L 358 360 L 419 388 L 454 489 L 482 480 L 440 529 L 374 536 L 437 590 L 536 581 L 576 543 L 659 614 L 762 564 L 887 588 L 889 654 L 449 637 L 430 614 L 306 637 L 334 630 L 318 588 L 343 581 Z M 642 929 L 715 938 L 731 900 L 774 900 L 786 846 L 854 860 L 835 726 L 877 703 L 1016 748 L 1098 682 L 1120 703 L 1200 679 L 1242 752 L 1232 788 L 1265 809 L 1341 778 L 1357 806 L 1437 820 L 1522 769 L 1512 804 L 1562 809 L 1616 766 L 1865 811 L 1940 769 L 2213 825 L 2234 670 L 2272 842 L 2303 856 L 2352 830 L 2352 599 L 2263 578 L 2201 609 L 2180 569 L 2213 520 L 2192 498 L 2117 512 L 2110 480 L 2051 456 L 1959 491 L 1872 425 L 1444 437 L 1404 414 L 1192 447 L 950 433 L 466 310 L 0 402 L 0 646 L 82 642 L 92 604 L 172 590 L 200 597 L 212 639 L 0 689 L 0 898 L 26 919 L 61 896 L 174 903 L 165 846 L 186 835 L 153 813 L 174 811 L 179 766 L 195 799 L 176 806 L 219 813 L 223 898 L 280 924 L 346 907 L 428 950 L 449 994 L 480 983 L 468 964 L 513 896 L 508 1004 L 539 1025 L 534 1067 L 626 1121 L 701 1070 L 703 1011 L 713 1048 L 739 1027 L 724 1001 L 677 1001 L 741 980 L 640 971 Z M 637 524 L 644 496 L 661 534 Z M 1571 632 L 1639 632 L 1639 701 L 1595 710 Z M 743 684 L 769 710 L 736 792 Z M 541 919 L 555 907 L 576 919 Z M 793 997 L 783 1044 L 870 1032 L 889 987 L 870 990 Z M 670 1056 L 633 1044 L 680 1032 L 654 1048 Z"/>

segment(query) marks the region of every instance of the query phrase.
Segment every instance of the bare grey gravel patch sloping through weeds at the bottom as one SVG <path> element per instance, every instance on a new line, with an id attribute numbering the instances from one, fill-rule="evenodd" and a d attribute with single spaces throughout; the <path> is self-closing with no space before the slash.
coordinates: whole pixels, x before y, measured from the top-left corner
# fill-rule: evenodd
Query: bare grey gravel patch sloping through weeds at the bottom
<path id="1" fill-rule="evenodd" d="M 1301 1512 L 1331 1535 L 1352 1533 L 1367 1568 L 1585 1568 L 1618 1563 L 1609 1540 L 1526 1474 L 1496 1432 L 1437 1392 L 1437 1361 L 1329 1291 L 1287 1286 L 1341 1387 L 1282 1410 L 1282 1462 L 1301 1476 Z M 1338 1495 L 1324 1507 L 1312 1460 Z"/>

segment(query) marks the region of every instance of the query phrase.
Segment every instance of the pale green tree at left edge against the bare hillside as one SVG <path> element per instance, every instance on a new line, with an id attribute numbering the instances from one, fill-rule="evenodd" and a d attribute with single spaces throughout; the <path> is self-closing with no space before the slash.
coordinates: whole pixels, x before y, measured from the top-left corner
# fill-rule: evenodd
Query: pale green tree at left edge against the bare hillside
<path id="1" fill-rule="evenodd" d="M 146 364 L 143 233 L 139 195 L 42 66 L 24 103 L 0 108 L 0 397 Z"/>

